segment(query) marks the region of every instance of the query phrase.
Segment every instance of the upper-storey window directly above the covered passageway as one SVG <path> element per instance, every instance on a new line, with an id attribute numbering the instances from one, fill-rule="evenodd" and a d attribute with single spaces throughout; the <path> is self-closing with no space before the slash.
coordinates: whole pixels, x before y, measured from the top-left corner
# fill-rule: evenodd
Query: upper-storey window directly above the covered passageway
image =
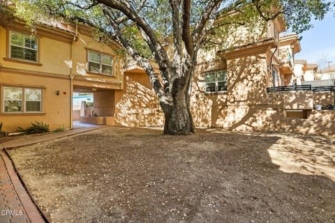
<path id="1" fill-rule="evenodd" d="M 113 75 L 113 58 L 97 52 L 89 51 L 89 71 L 105 75 Z"/>

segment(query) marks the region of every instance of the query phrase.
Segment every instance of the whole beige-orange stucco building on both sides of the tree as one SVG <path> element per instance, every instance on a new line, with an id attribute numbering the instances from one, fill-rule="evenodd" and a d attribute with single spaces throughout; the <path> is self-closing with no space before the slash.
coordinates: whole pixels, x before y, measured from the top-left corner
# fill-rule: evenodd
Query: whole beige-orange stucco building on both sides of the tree
<path id="1" fill-rule="evenodd" d="M 279 37 L 284 29 L 280 19 L 255 32 L 232 29 L 228 38 L 218 38 L 226 45 L 200 53 L 191 101 L 197 126 L 334 134 L 334 111 L 313 109 L 315 104 L 334 105 L 334 91 L 279 91 L 292 84 L 294 56 L 301 50 L 296 35 Z M 120 48 L 99 43 L 84 26 L 45 24 L 36 36 L 20 22 L 0 26 L 3 130 L 26 128 L 32 121 L 51 129 L 73 128 L 76 118 L 107 125 L 163 125 L 147 74 L 126 62 L 117 53 Z M 94 107 L 73 113 L 73 92 L 93 93 Z"/>

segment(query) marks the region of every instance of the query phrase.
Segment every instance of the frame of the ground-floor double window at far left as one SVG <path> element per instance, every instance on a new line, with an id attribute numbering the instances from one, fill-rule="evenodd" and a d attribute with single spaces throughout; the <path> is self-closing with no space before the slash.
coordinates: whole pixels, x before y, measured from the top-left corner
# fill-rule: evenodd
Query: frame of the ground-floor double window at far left
<path id="1" fill-rule="evenodd" d="M 11 88 L 11 89 L 22 89 L 22 98 L 21 100 L 21 111 L 20 112 L 6 112 L 5 111 L 5 94 L 4 94 L 4 89 L 5 88 Z M 39 112 L 27 112 L 27 107 L 26 107 L 26 102 L 30 100 L 26 100 L 26 89 L 38 89 L 41 91 L 40 93 L 40 111 Z M 38 88 L 38 87 L 22 87 L 22 86 L 1 86 L 1 113 L 3 114 L 36 114 L 36 113 L 43 113 L 43 89 Z"/>

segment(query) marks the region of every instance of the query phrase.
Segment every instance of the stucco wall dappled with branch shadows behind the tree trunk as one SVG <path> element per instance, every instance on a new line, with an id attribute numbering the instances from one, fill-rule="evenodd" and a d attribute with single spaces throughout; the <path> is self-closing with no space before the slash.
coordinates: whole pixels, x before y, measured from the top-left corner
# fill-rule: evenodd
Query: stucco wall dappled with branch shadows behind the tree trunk
<path id="1" fill-rule="evenodd" d="M 191 112 L 195 125 L 236 131 L 335 134 L 333 111 L 327 115 L 324 111 L 306 112 L 304 116 L 288 118 L 287 109 L 313 109 L 313 92 L 267 93 L 271 84 L 267 63 L 265 54 L 258 54 L 227 63 L 200 64 L 192 83 Z M 205 93 L 204 72 L 225 68 L 228 91 Z M 163 113 L 147 75 L 124 75 L 124 86 L 123 91 L 115 91 L 117 125 L 163 125 Z"/>

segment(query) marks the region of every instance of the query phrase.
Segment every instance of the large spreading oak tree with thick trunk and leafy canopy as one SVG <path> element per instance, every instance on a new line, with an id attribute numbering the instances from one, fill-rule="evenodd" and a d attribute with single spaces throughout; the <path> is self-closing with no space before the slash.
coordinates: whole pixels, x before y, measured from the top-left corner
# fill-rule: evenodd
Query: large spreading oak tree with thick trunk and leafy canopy
<path id="1" fill-rule="evenodd" d="M 165 115 L 165 134 L 195 132 L 191 82 L 198 52 L 226 26 L 281 16 L 292 31 L 311 28 L 331 3 L 323 0 L 27 0 L 16 1 L 27 22 L 57 15 L 87 24 L 120 43 L 147 72 Z M 1 11 L 0 11 L 1 12 Z M 173 47 L 168 53 L 168 47 Z M 152 59 L 159 66 L 156 73 Z"/>

